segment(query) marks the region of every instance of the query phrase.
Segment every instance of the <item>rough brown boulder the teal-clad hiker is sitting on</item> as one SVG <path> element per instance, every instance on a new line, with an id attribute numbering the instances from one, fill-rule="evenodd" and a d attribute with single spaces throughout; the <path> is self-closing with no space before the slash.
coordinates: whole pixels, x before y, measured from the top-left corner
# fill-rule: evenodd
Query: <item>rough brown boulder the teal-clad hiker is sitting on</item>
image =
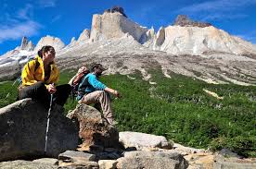
<path id="1" fill-rule="evenodd" d="M 67 117 L 79 123 L 79 137 L 83 139 L 83 146 L 119 147 L 118 130 L 109 126 L 107 120 L 96 108 L 83 103 L 78 104 Z"/>

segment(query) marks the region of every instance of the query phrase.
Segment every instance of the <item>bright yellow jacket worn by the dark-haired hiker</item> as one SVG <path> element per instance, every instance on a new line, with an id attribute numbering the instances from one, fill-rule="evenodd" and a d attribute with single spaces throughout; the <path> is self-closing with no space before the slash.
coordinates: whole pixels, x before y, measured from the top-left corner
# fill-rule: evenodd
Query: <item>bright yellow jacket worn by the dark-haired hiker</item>
<path id="1" fill-rule="evenodd" d="M 37 62 L 35 59 L 37 59 L 40 65 L 34 71 L 34 68 Z M 58 78 L 59 78 L 58 66 L 56 66 L 55 63 L 50 65 L 51 67 L 50 78 L 48 78 L 45 81 L 45 69 L 44 69 L 43 60 L 38 55 L 35 57 L 35 59 L 28 62 L 22 70 L 22 73 L 21 73 L 22 87 L 31 86 L 32 84 L 38 81 L 44 81 L 46 88 L 48 88 L 49 84 L 58 83 Z"/>

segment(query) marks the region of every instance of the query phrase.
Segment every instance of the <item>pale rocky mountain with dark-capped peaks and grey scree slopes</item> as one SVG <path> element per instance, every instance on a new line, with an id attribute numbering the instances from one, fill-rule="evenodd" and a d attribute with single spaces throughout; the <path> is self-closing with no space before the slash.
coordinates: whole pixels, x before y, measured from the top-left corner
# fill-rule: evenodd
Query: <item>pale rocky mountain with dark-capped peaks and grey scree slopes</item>
<path id="1" fill-rule="evenodd" d="M 46 36 L 33 51 L 17 48 L 2 55 L 0 78 L 8 78 L 6 66 L 22 65 L 21 61 L 24 63 L 45 44 L 58 51 L 62 70 L 99 62 L 109 67 L 108 74 L 128 75 L 138 70 L 148 81 L 147 70 L 160 67 L 168 78 L 178 73 L 210 83 L 256 83 L 256 47 L 252 43 L 185 16 L 179 16 L 173 26 L 147 29 L 117 6 L 94 15 L 91 30 L 83 30 L 78 40 L 72 38 L 66 46 L 60 39 Z M 17 74 L 16 69 L 9 74 Z"/>

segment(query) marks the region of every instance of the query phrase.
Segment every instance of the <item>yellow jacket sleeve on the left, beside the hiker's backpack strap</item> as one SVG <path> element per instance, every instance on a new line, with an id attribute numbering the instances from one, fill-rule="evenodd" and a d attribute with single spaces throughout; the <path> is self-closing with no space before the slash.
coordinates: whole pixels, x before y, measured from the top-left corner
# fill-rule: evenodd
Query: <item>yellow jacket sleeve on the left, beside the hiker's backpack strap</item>
<path id="1" fill-rule="evenodd" d="M 21 73 L 22 86 L 31 86 L 32 84 L 37 82 L 37 80 L 34 78 L 35 65 L 36 61 L 32 60 L 23 67 Z"/>

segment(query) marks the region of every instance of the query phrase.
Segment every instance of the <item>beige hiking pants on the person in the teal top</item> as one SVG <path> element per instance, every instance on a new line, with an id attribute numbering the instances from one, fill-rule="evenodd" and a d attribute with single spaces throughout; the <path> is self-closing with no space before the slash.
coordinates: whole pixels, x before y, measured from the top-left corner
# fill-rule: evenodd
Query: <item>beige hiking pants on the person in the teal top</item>
<path id="1" fill-rule="evenodd" d="M 104 117 L 108 120 L 109 124 L 113 123 L 113 115 L 111 109 L 110 95 L 106 91 L 94 91 L 83 96 L 78 103 L 100 103 Z"/>

